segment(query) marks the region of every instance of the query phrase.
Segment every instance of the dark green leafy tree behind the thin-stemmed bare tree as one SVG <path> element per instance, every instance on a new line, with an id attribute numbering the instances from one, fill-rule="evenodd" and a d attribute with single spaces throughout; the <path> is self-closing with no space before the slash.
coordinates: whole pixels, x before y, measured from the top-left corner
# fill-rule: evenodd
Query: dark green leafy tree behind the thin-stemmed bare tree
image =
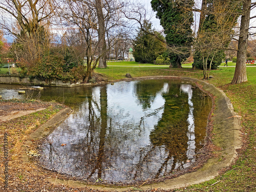
<path id="1" fill-rule="evenodd" d="M 209 45 L 205 45 L 205 47 L 209 46 L 208 52 L 211 53 L 204 55 L 204 59 L 202 58 L 202 50 L 195 46 L 193 67 L 203 69 L 204 60 L 207 61 L 207 68 L 217 69 L 225 58 L 224 49 L 228 47 L 233 34 L 232 28 L 237 24 L 239 16 L 237 13 L 241 9 L 241 3 L 237 0 L 204 0 L 203 4 L 205 4 L 205 10 L 201 14 L 198 37 L 202 38 L 200 34 L 204 34 L 204 38 L 207 38 L 205 36 L 216 36 L 216 39 L 219 38 L 221 40 L 220 42 L 216 40 L 216 45 L 211 43 L 211 46 L 206 40 L 205 44 Z M 198 41 L 201 41 L 201 39 L 197 38 L 196 44 Z M 212 58 L 212 60 L 207 59 L 207 57 Z"/>

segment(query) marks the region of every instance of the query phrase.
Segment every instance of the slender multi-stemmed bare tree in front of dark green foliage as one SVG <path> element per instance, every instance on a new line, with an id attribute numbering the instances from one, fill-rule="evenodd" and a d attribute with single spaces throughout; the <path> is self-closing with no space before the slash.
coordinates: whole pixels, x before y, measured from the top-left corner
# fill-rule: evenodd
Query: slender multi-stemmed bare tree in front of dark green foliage
<path id="1" fill-rule="evenodd" d="M 230 7 L 223 1 L 215 1 L 206 11 L 205 2 L 202 3 L 194 49 L 199 52 L 200 58 L 203 60 L 203 75 L 206 79 L 209 76 L 207 73 L 208 63 L 210 72 L 215 56 L 220 50 L 227 49 L 232 36 L 236 35 L 232 28 L 237 24 L 237 16 L 234 15 L 237 11 L 234 12 L 236 6 Z"/>

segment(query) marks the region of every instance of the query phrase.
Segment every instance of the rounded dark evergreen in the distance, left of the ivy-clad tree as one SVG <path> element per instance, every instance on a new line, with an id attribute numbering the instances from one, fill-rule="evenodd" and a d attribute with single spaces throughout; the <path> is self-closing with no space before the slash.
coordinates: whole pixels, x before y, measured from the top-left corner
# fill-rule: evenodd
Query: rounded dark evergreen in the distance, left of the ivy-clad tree
<path id="1" fill-rule="evenodd" d="M 133 56 L 136 62 L 153 63 L 166 48 L 162 41 L 145 31 L 154 33 L 161 39 L 164 39 L 164 37 L 157 31 L 154 31 L 152 29 L 152 24 L 147 20 L 144 20 L 143 28 L 144 30 L 139 29 L 138 36 L 133 41 Z"/>

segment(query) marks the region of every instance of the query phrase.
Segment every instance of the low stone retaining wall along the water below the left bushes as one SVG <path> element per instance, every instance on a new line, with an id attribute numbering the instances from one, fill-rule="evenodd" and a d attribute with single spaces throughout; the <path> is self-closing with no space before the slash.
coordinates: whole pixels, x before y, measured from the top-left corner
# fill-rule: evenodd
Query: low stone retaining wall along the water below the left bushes
<path id="1" fill-rule="evenodd" d="M 0 83 L 4 84 L 29 84 L 34 86 L 56 86 L 56 87 L 74 87 L 79 86 L 80 83 L 63 82 L 55 79 L 51 82 L 41 81 L 38 79 L 30 79 L 29 77 L 20 78 L 19 76 L 0 75 Z"/>

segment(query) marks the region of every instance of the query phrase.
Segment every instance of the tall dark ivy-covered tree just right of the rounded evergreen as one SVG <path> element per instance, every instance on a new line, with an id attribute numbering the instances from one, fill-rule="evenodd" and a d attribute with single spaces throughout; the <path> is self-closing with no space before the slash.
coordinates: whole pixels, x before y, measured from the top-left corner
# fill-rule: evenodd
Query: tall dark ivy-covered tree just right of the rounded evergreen
<path id="1" fill-rule="evenodd" d="M 151 6 L 166 34 L 169 58 L 173 67 L 181 67 L 181 62 L 190 55 L 193 42 L 193 0 L 152 0 Z"/>

